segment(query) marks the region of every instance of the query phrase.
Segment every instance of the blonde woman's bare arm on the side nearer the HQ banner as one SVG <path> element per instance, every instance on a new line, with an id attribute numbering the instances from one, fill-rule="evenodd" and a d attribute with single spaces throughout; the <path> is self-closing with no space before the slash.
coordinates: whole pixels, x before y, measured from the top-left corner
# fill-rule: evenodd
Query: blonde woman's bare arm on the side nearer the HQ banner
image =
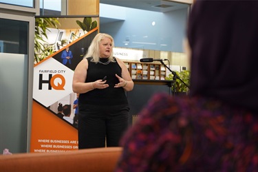
<path id="1" fill-rule="evenodd" d="M 88 61 L 83 59 L 78 63 L 74 70 L 74 78 L 72 80 L 72 90 L 75 93 L 81 94 L 95 89 L 95 82 L 85 83 L 87 78 Z"/>

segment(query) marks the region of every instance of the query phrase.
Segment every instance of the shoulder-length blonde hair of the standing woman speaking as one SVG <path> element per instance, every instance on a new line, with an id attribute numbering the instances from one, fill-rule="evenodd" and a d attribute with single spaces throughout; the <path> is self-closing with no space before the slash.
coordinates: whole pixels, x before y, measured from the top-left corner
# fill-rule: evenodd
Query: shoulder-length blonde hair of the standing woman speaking
<path id="1" fill-rule="evenodd" d="M 100 45 L 100 42 L 105 38 L 108 38 L 111 40 L 112 45 L 111 45 L 111 54 L 109 56 L 109 61 L 114 62 L 115 61 L 114 56 L 113 56 L 114 39 L 109 34 L 104 34 L 104 33 L 96 34 L 96 36 L 92 40 L 91 45 L 89 45 L 89 49 L 84 58 L 93 57 L 92 62 L 98 63 L 99 58 L 100 58 L 99 45 Z"/>

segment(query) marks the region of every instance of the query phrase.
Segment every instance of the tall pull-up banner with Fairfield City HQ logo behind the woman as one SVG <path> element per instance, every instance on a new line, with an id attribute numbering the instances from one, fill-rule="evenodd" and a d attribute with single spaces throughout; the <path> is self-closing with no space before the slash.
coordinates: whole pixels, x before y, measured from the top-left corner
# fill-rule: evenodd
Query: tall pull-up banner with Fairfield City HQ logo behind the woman
<path id="1" fill-rule="evenodd" d="M 72 91 L 72 78 L 76 65 L 98 33 L 98 18 L 41 19 L 56 21 L 58 28 L 47 28 L 47 37 L 41 36 L 42 40 L 36 42 L 41 48 L 35 48 L 34 56 L 30 152 L 77 150 L 78 131 L 73 108 L 77 95 Z M 88 31 L 80 28 L 78 23 L 86 20 L 96 27 Z M 71 108 L 67 116 L 61 110 L 64 106 Z"/>

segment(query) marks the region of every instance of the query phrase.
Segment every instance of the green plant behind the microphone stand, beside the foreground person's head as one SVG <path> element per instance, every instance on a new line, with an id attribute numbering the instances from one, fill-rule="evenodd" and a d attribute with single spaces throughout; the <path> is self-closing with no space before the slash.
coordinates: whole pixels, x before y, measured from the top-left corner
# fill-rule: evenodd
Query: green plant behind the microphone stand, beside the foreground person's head
<path id="1" fill-rule="evenodd" d="M 190 85 L 190 71 L 189 70 L 183 70 L 181 72 L 175 72 L 181 80 L 186 83 L 186 85 Z M 176 92 L 188 92 L 189 88 L 182 83 L 182 81 L 179 78 L 176 78 L 175 84 L 172 85 L 171 89 L 172 91 Z M 169 76 L 166 77 L 166 80 L 173 80 L 173 74 L 169 74 Z"/>

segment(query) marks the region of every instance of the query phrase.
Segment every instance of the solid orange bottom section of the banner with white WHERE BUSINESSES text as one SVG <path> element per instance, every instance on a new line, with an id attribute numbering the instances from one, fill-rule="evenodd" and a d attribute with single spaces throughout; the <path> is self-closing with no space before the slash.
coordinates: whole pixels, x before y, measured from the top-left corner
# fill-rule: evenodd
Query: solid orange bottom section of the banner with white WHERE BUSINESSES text
<path id="1" fill-rule="evenodd" d="M 30 152 L 78 150 L 78 131 L 33 101 Z"/>

